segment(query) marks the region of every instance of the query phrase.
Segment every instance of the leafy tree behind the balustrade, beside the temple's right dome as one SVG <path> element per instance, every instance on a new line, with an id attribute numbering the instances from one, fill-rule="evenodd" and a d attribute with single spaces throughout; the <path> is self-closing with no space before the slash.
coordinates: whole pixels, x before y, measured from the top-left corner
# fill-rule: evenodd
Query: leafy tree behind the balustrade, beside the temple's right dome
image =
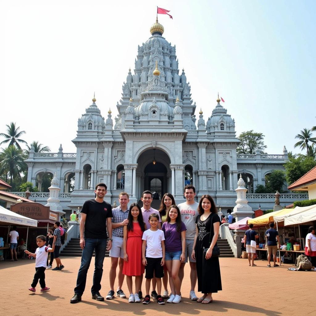
<path id="1" fill-rule="evenodd" d="M 264 145 L 264 135 L 262 133 L 256 133 L 253 130 L 242 132 L 238 139 L 240 140 L 237 146 L 237 154 L 255 154 L 256 148 L 260 150 L 261 154 L 264 154 L 264 150 L 267 148 Z"/>

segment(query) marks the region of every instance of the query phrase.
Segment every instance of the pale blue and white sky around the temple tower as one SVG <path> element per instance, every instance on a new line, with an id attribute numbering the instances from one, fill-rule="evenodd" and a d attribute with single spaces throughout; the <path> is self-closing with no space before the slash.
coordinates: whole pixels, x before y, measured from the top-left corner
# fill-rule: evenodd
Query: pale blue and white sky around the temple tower
<path id="1" fill-rule="evenodd" d="M 316 125 L 315 1 L 2 1 L 0 132 L 16 122 L 27 143 L 76 152 L 71 140 L 94 92 L 114 122 L 157 5 L 173 16 L 158 19 L 176 45 L 195 114 L 201 108 L 206 122 L 219 92 L 237 136 L 254 130 L 269 154 L 283 145 L 301 152 L 295 135 Z"/>

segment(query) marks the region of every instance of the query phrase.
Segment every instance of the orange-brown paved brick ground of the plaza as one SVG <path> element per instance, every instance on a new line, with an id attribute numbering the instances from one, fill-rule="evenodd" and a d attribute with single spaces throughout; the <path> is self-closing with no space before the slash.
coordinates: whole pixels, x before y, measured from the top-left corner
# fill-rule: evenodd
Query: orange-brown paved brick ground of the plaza
<path id="1" fill-rule="evenodd" d="M 93 268 L 91 266 L 83 301 L 70 304 L 80 265 L 78 257 L 62 257 L 62 271 L 46 270 L 46 284 L 51 291 L 36 294 L 28 290 L 33 279 L 35 260 L 0 262 L 0 315 L 61 316 L 61 315 L 312 315 L 316 311 L 316 272 L 289 271 L 291 265 L 267 268 L 266 261 L 248 267 L 246 259 L 221 258 L 223 291 L 214 294 L 214 302 L 202 305 L 188 299 L 190 280 L 185 277 L 179 304 L 130 304 L 126 299 L 97 302 L 91 299 Z M 92 259 L 92 264 L 93 264 Z M 101 294 L 106 295 L 110 258 L 104 260 Z M 185 276 L 189 276 L 186 266 Z M 127 294 L 126 283 L 123 290 Z M 144 291 L 144 286 L 143 286 Z"/>

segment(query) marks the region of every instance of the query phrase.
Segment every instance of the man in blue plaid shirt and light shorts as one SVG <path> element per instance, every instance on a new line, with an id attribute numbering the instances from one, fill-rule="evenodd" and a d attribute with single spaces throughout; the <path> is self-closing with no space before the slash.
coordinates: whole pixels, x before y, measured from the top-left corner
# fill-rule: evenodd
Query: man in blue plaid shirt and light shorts
<path id="1" fill-rule="evenodd" d="M 119 285 L 116 291 L 116 296 L 124 298 L 126 295 L 122 291 L 122 284 L 124 281 L 123 264 L 124 264 L 124 251 L 123 251 L 123 228 L 128 224 L 128 206 L 130 196 L 126 192 L 119 194 L 119 206 L 112 209 L 112 248 L 110 250 L 111 268 L 109 273 L 110 278 L 110 291 L 106 295 L 107 300 L 112 300 L 114 297 L 114 282 L 116 278 L 116 267 L 119 264 Z"/>

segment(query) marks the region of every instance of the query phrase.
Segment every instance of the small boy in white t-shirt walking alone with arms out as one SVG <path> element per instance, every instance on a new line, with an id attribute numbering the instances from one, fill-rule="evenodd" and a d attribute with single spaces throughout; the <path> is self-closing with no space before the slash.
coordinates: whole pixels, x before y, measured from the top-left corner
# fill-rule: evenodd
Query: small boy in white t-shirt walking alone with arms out
<path id="1" fill-rule="evenodd" d="M 49 290 L 49 288 L 46 287 L 45 284 L 45 270 L 46 270 L 46 263 L 47 263 L 47 258 L 48 258 L 48 252 L 53 252 L 55 249 L 55 244 L 53 243 L 52 248 L 46 247 L 46 236 L 44 235 L 39 235 L 36 237 L 36 244 L 38 248 L 36 248 L 35 253 L 31 253 L 28 250 L 25 250 L 25 253 L 35 257 L 35 274 L 33 278 L 33 282 L 31 284 L 31 287 L 29 290 L 31 292 L 35 292 L 36 285 L 40 280 L 40 286 L 41 286 L 41 292 L 46 292 Z"/>

